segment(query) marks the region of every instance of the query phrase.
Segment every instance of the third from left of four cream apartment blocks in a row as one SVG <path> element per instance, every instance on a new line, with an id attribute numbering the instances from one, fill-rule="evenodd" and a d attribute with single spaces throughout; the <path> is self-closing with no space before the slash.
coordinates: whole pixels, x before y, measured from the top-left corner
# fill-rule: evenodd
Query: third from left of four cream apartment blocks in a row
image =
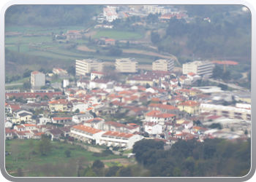
<path id="1" fill-rule="evenodd" d="M 152 63 L 153 71 L 173 71 L 174 60 L 155 60 Z"/>

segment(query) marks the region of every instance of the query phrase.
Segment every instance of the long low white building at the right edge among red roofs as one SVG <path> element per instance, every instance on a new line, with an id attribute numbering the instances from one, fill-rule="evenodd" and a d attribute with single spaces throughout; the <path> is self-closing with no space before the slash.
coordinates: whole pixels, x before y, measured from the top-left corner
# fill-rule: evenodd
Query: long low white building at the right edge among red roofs
<path id="1" fill-rule="evenodd" d="M 250 108 L 237 108 L 233 106 L 201 103 L 200 112 L 211 112 L 217 116 L 225 116 L 230 119 L 244 119 L 245 121 L 251 121 Z"/>

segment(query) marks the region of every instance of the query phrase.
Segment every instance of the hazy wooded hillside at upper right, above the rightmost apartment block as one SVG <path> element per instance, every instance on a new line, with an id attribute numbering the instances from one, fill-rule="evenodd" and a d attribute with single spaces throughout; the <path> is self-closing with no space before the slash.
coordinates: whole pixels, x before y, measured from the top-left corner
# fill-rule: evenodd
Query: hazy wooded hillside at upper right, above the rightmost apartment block
<path id="1" fill-rule="evenodd" d="M 154 34 L 157 37 L 156 33 Z M 184 19 L 170 19 L 162 40 L 152 41 L 159 50 L 174 55 L 198 55 L 208 58 L 229 57 L 238 62 L 251 61 L 251 15 L 227 18 L 220 13 L 211 15 L 211 22 L 196 17 L 186 23 Z"/>

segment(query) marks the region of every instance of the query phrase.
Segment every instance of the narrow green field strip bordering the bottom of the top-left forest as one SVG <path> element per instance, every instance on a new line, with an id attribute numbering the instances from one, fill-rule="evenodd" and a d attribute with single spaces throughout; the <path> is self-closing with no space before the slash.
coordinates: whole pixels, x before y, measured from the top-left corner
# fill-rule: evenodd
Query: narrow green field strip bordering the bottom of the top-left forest
<path id="1" fill-rule="evenodd" d="M 85 26 L 64 26 L 64 27 L 49 27 L 49 28 L 41 28 L 41 27 L 20 27 L 20 26 L 7 26 L 4 31 L 12 31 L 12 32 L 20 32 L 20 33 L 59 33 L 63 31 L 63 33 L 67 33 L 67 31 L 72 30 L 83 30 L 86 29 Z"/>

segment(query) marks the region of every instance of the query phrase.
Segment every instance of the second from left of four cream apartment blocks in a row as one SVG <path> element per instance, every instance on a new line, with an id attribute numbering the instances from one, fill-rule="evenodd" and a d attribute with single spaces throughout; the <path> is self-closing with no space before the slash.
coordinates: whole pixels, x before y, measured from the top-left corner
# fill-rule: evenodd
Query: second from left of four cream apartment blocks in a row
<path id="1" fill-rule="evenodd" d="M 138 62 L 135 58 L 116 59 L 116 70 L 121 73 L 137 73 Z"/>

